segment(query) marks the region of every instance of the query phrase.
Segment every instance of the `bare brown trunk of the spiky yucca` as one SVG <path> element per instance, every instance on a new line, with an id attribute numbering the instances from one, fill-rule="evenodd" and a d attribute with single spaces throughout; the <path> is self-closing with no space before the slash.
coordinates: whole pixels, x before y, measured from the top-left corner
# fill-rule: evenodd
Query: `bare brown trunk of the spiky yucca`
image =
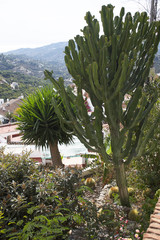
<path id="1" fill-rule="evenodd" d="M 55 141 L 54 144 L 50 144 L 50 152 L 51 152 L 51 159 L 53 166 L 56 167 L 63 167 L 61 155 L 58 149 L 58 142 Z"/>

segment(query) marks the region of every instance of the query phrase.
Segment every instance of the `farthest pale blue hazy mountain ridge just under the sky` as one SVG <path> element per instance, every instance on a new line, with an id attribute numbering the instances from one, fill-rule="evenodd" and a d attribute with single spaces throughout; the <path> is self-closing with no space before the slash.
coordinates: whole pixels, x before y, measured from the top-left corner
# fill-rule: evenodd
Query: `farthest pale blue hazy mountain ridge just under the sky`
<path id="1" fill-rule="evenodd" d="M 40 61 L 64 64 L 65 46 L 67 42 L 58 42 L 38 48 L 21 48 L 4 54 L 25 55 Z"/>

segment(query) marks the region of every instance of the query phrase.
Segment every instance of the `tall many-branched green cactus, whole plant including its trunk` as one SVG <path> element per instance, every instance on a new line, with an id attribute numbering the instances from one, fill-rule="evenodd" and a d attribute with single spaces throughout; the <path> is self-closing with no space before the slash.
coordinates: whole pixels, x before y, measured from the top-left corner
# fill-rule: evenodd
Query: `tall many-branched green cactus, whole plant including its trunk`
<path id="1" fill-rule="evenodd" d="M 125 15 L 124 8 L 114 17 L 113 9 L 102 6 L 102 35 L 99 22 L 87 12 L 83 36 L 77 35 L 65 48 L 65 63 L 77 93 L 66 90 L 63 79 L 56 81 L 51 72 L 45 71 L 45 77 L 64 99 L 74 134 L 87 148 L 99 152 L 104 162 L 113 161 L 121 204 L 130 206 L 124 165 L 144 152 L 155 127 L 144 134 L 157 94 L 146 98 L 143 88 L 160 41 L 160 23 L 150 24 L 146 13 Z M 94 107 L 91 115 L 84 104 L 84 90 Z M 126 94 L 130 99 L 123 109 Z M 56 109 L 65 123 L 63 111 Z M 109 125 L 112 157 L 106 153 L 103 123 Z"/>

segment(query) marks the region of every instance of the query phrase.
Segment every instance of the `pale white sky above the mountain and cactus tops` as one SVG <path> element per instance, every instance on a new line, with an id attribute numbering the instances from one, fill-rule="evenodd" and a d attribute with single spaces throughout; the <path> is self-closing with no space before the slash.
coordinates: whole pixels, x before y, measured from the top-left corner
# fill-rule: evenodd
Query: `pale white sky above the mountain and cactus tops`
<path id="1" fill-rule="evenodd" d="M 115 15 L 122 6 L 141 10 L 136 0 L 0 0 L 0 52 L 68 41 L 80 34 L 87 11 L 100 20 L 101 6 L 109 3 Z"/>

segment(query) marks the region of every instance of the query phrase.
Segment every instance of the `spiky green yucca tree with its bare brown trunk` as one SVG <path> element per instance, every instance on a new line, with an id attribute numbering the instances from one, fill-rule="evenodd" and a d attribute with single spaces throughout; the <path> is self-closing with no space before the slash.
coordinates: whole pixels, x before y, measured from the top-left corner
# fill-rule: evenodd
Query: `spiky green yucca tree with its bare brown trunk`
<path id="1" fill-rule="evenodd" d="M 61 98 L 53 92 L 53 88 L 45 87 L 37 90 L 23 100 L 17 109 L 16 119 L 22 139 L 26 144 L 37 147 L 50 147 L 54 167 L 62 167 L 58 143 L 67 144 L 72 141 L 72 135 L 62 130 L 60 121 L 52 104 L 53 99 L 63 108 Z M 64 108 L 63 108 L 64 109 Z M 66 115 L 65 111 L 64 114 Z M 69 127 L 66 126 L 66 129 Z"/>

